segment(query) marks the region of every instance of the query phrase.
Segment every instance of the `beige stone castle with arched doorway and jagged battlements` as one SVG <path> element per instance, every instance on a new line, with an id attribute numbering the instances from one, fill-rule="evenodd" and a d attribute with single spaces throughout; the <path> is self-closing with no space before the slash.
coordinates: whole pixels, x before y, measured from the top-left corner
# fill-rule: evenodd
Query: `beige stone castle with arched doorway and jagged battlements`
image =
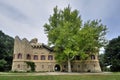
<path id="1" fill-rule="evenodd" d="M 58 64 L 55 60 L 55 53 L 52 48 L 38 43 L 34 38 L 28 41 L 26 38 L 15 37 L 12 71 L 30 71 L 26 62 L 35 63 L 37 72 L 67 71 L 67 64 Z M 101 72 L 98 54 L 90 55 L 87 60 L 81 61 L 76 56 L 71 64 L 72 72 Z"/>

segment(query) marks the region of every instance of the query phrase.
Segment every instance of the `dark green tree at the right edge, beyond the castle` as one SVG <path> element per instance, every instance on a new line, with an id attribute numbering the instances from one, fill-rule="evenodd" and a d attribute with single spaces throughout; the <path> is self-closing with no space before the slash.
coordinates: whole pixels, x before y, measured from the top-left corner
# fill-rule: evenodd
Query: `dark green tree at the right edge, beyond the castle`
<path id="1" fill-rule="evenodd" d="M 120 36 L 109 41 L 105 48 L 105 65 L 111 66 L 111 71 L 120 71 Z"/>

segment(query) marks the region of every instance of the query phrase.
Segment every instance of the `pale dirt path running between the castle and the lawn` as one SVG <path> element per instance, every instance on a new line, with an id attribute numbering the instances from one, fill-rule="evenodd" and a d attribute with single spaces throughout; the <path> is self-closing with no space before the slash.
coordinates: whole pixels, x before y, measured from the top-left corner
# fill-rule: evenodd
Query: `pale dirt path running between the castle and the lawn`
<path id="1" fill-rule="evenodd" d="M 67 72 L 43 72 L 43 73 L 7 73 L 0 72 L 0 76 L 39 76 L 39 75 L 113 75 L 111 72 L 101 73 L 67 73 Z M 120 74 L 119 74 L 120 75 Z"/>

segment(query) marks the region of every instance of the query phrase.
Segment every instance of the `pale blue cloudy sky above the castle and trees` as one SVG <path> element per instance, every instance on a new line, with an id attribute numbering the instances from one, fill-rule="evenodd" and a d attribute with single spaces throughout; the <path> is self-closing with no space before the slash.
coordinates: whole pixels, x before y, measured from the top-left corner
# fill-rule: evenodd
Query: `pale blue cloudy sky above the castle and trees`
<path id="1" fill-rule="evenodd" d="M 83 21 L 101 19 L 108 40 L 120 35 L 120 0 L 0 0 L 0 30 L 47 44 L 43 25 L 56 5 L 63 9 L 68 4 L 79 10 Z"/>

